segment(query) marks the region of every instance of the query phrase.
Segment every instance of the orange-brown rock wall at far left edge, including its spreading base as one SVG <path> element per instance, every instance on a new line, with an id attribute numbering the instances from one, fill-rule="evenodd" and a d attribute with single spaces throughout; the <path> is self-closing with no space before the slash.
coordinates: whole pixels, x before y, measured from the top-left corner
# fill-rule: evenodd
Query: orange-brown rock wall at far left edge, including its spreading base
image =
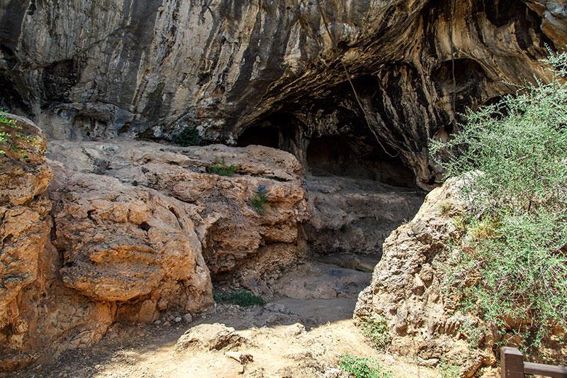
<path id="1" fill-rule="evenodd" d="M 0 154 L 0 371 L 99 340 L 116 306 L 93 302 L 64 286 L 50 235 L 52 169 L 45 137 L 30 121 L 11 138 L 18 150 Z"/>

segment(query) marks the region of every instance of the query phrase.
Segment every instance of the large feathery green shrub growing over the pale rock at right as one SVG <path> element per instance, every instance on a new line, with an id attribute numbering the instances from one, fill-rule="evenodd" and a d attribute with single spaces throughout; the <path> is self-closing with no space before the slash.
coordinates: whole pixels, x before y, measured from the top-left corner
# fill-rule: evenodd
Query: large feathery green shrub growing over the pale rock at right
<path id="1" fill-rule="evenodd" d="M 469 111 L 452 140 L 431 143 L 449 177 L 466 177 L 463 252 L 447 279 L 478 279 L 456 288 L 461 308 L 532 351 L 567 329 L 567 54 L 549 62 L 549 83 Z"/>

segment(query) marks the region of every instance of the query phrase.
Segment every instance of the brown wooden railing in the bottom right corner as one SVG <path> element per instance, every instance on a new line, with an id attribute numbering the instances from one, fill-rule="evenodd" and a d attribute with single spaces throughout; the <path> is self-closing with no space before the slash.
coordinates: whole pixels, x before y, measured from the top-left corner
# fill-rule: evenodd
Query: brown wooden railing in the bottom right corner
<path id="1" fill-rule="evenodd" d="M 524 355 L 517 348 L 500 349 L 500 366 L 502 367 L 502 378 L 524 378 L 525 374 L 567 378 L 567 367 L 524 362 Z"/>

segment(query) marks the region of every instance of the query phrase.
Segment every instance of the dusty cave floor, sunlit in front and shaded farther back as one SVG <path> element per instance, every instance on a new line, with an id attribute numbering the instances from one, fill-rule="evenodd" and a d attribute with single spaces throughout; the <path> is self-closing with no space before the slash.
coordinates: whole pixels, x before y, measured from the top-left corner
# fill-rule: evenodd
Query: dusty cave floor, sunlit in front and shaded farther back
<path id="1" fill-rule="evenodd" d="M 412 360 L 377 352 L 354 326 L 352 312 L 371 272 L 349 269 L 348 254 L 321 257 L 286 272 L 264 306 L 216 304 L 191 323 L 124 324 L 101 342 L 73 350 L 50 364 L 31 366 L 16 377 L 347 377 L 341 355 L 376 359 L 393 377 L 441 377 Z M 366 257 L 371 260 L 373 257 Z M 364 259 L 363 259 L 364 260 Z M 342 266 L 341 266 L 342 265 Z M 178 319 L 179 321 L 179 319 Z M 176 349 L 186 330 L 222 323 L 246 342 L 237 348 Z M 203 335 L 205 338 L 206 335 Z M 246 365 L 225 352 L 252 355 Z"/>

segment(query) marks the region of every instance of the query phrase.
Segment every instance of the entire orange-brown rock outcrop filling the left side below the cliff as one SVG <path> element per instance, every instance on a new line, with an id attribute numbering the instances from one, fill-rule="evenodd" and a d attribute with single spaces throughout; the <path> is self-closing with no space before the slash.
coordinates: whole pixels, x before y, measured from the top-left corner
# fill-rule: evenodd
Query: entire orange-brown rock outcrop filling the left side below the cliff
<path id="1" fill-rule="evenodd" d="M 115 321 L 203 311 L 210 274 L 253 287 L 305 252 L 287 152 L 54 142 L 46 161 L 40 130 L 18 122 L 33 144 L 0 154 L 1 370 L 89 346 Z"/>

